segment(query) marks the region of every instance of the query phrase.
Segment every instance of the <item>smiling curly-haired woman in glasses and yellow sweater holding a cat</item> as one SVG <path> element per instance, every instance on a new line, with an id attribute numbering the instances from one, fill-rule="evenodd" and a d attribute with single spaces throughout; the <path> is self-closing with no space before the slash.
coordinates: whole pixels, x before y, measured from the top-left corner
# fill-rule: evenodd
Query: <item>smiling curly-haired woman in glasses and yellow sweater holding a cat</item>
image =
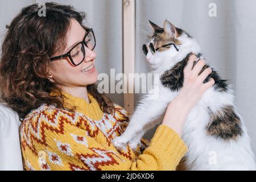
<path id="1" fill-rule="evenodd" d="M 175 170 L 187 151 L 180 138 L 185 118 L 214 84 L 203 84 L 210 69 L 199 75 L 205 61 L 192 69 L 196 56 L 190 57 L 184 87 L 149 144 L 142 139 L 137 151 L 115 148 L 112 139 L 125 130 L 128 113 L 94 85 L 93 30 L 72 6 L 46 8 L 41 17 L 36 4 L 22 9 L 2 46 L 2 99 L 22 119 L 24 169 Z"/>

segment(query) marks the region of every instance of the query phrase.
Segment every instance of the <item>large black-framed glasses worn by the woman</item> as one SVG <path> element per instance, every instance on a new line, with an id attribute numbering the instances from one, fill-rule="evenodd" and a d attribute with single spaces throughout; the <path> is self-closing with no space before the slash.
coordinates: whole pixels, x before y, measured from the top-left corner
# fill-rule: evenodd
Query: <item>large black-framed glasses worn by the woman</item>
<path id="1" fill-rule="evenodd" d="M 71 60 L 71 63 L 75 66 L 79 65 L 84 61 L 85 58 L 85 47 L 93 51 L 93 49 L 96 46 L 96 39 L 94 36 L 94 32 L 92 28 L 88 28 L 85 30 L 86 33 L 84 35 L 84 38 L 80 43 L 77 43 L 75 46 L 73 46 L 70 51 L 65 53 L 64 55 L 51 57 L 51 61 L 62 59 L 64 57 L 69 57 Z"/>

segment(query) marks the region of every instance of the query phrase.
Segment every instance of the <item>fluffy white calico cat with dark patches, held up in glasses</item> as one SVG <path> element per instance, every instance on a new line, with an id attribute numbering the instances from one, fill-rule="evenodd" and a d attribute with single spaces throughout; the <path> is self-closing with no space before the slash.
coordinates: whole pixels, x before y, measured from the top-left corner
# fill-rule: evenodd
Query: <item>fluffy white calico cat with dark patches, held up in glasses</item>
<path id="1" fill-rule="evenodd" d="M 150 93 L 144 96 L 131 116 L 125 132 L 113 140 L 116 147 L 124 147 L 126 144 L 137 147 L 143 134 L 155 126 L 166 111 L 168 103 L 182 88 L 183 69 L 189 55 L 194 53 L 201 57 L 196 40 L 185 31 L 176 28 L 168 20 L 164 21 L 163 28 L 152 22 L 150 24 L 154 30 L 150 43 L 158 49 L 153 48 L 151 52 L 147 47 L 145 50 L 144 46 L 144 51 L 152 72 L 160 75 L 159 84 L 154 85 L 154 88 L 159 88 L 159 97 L 152 99 Z M 209 65 L 205 65 L 202 72 L 208 67 Z M 182 139 L 188 146 L 188 152 L 183 158 L 185 168 L 254 170 L 250 139 L 234 106 L 232 89 L 213 68 L 212 70 L 212 74 L 204 82 L 212 77 L 215 80 L 214 86 L 204 93 L 185 121 L 182 134 Z M 214 160 L 210 162 L 212 158 Z"/>

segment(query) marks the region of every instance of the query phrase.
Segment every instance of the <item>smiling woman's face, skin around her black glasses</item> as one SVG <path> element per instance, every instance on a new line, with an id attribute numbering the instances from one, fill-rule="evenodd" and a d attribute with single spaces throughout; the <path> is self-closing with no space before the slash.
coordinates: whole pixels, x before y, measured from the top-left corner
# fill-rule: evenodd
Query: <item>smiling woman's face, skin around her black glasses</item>
<path id="1" fill-rule="evenodd" d="M 65 50 L 56 53 L 53 57 L 67 53 L 73 46 L 82 41 L 85 32 L 79 22 L 75 19 L 71 19 L 71 27 L 66 35 L 67 46 L 64 48 Z M 67 88 L 84 87 L 93 84 L 97 81 L 98 76 L 98 72 L 94 68 L 95 59 L 96 53 L 90 51 L 90 49 L 85 46 L 84 61 L 76 67 L 72 65 L 68 57 L 52 61 L 50 69 L 50 74 L 52 75 L 51 80 Z M 88 70 L 92 65 L 93 68 Z"/>

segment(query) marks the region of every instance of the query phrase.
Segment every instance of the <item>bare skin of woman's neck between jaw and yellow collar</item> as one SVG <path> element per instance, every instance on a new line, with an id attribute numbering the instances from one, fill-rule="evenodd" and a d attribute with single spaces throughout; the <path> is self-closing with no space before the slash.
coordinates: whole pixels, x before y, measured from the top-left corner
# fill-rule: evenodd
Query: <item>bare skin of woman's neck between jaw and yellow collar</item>
<path id="1" fill-rule="evenodd" d="M 63 87 L 61 88 L 64 92 L 67 92 L 68 94 L 71 94 L 74 97 L 79 97 L 84 99 L 86 102 L 90 102 L 88 98 L 88 93 L 87 93 L 87 88 L 86 86 L 84 87 Z"/>

